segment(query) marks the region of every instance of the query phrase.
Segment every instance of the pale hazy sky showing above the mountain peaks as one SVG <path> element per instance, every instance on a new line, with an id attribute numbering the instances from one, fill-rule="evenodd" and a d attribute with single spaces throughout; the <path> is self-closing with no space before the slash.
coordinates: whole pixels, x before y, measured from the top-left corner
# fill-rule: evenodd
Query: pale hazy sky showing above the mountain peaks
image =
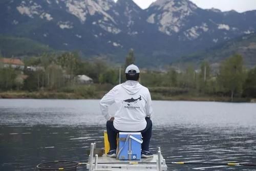
<path id="1" fill-rule="evenodd" d="M 117 1 L 117 0 L 114 0 Z M 128 1 L 128 0 L 127 0 Z M 129 0 L 130 1 L 130 0 Z M 133 0 L 142 9 L 147 8 L 150 4 L 156 0 Z M 256 10 L 256 0 L 190 0 L 194 2 L 198 7 L 203 9 L 217 8 L 221 11 L 236 10 L 238 12 L 244 12 L 248 10 Z"/>

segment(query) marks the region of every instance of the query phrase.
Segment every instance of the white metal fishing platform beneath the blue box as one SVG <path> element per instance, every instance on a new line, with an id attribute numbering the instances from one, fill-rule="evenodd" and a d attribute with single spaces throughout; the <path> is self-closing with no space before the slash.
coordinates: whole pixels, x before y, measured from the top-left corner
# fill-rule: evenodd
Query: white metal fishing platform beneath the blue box
<path id="1" fill-rule="evenodd" d="M 116 158 L 110 158 L 106 155 L 98 157 L 93 156 L 95 143 L 91 144 L 91 151 L 89 161 L 87 163 L 87 169 L 89 171 L 112 171 L 112 170 L 154 170 L 154 171 L 166 171 L 167 165 L 165 159 L 161 155 L 160 147 L 158 148 L 158 154 L 151 158 L 143 158 L 141 160 L 117 160 Z"/>

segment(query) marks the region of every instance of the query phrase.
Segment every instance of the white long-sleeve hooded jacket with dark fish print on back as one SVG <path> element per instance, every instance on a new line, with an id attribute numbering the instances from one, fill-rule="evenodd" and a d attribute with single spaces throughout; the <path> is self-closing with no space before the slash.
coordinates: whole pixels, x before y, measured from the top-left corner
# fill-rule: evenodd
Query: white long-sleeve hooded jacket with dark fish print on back
<path id="1" fill-rule="evenodd" d="M 112 117 L 109 106 L 113 103 L 118 108 L 114 127 L 119 131 L 142 131 L 146 127 L 145 117 L 153 114 L 150 92 L 138 81 L 127 80 L 100 100 L 100 109 L 106 120 Z"/>

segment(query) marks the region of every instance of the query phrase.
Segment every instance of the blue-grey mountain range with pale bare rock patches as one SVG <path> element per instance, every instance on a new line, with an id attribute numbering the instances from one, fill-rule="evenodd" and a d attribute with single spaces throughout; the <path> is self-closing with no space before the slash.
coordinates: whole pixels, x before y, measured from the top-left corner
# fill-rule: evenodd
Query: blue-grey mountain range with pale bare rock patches
<path id="1" fill-rule="evenodd" d="M 116 62 L 123 62 L 132 48 L 136 61 L 144 66 L 171 63 L 253 34 L 255 18 L 256 10 L 201 9 L 188 0 L 157 0 L 145 10 L 132 0 L 0 2 L 1 35 Z"/>

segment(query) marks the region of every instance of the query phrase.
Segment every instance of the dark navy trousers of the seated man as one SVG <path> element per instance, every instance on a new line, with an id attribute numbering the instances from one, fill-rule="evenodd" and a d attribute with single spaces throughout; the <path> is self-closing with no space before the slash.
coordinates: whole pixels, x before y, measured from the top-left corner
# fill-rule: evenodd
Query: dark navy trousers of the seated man
<path id="1" fill-rule="evenodd" d="M 142 131 L 137 131 L 137 132 L 141 132 L 141 135 L 142 135 L 143 143 L 141 144 L 141 149 L 144 151 L 150 151 L 150 139 L 151 139 L 151 135 L 152 135 L 152 121 L 150 118 L 145 118 L 145 119 L 146 119 L 146 123 L 147 123 L 146 128 Z M 117 142 L 116 142 L 117 134 L 122 131 L 115 129 L 115 127 L 113 125 L 113 121 L 106 122 L 106 131 L 108 132 L 108 139 L 110 142 L 110 150 L 116 149 L 117 148 Z"/>

